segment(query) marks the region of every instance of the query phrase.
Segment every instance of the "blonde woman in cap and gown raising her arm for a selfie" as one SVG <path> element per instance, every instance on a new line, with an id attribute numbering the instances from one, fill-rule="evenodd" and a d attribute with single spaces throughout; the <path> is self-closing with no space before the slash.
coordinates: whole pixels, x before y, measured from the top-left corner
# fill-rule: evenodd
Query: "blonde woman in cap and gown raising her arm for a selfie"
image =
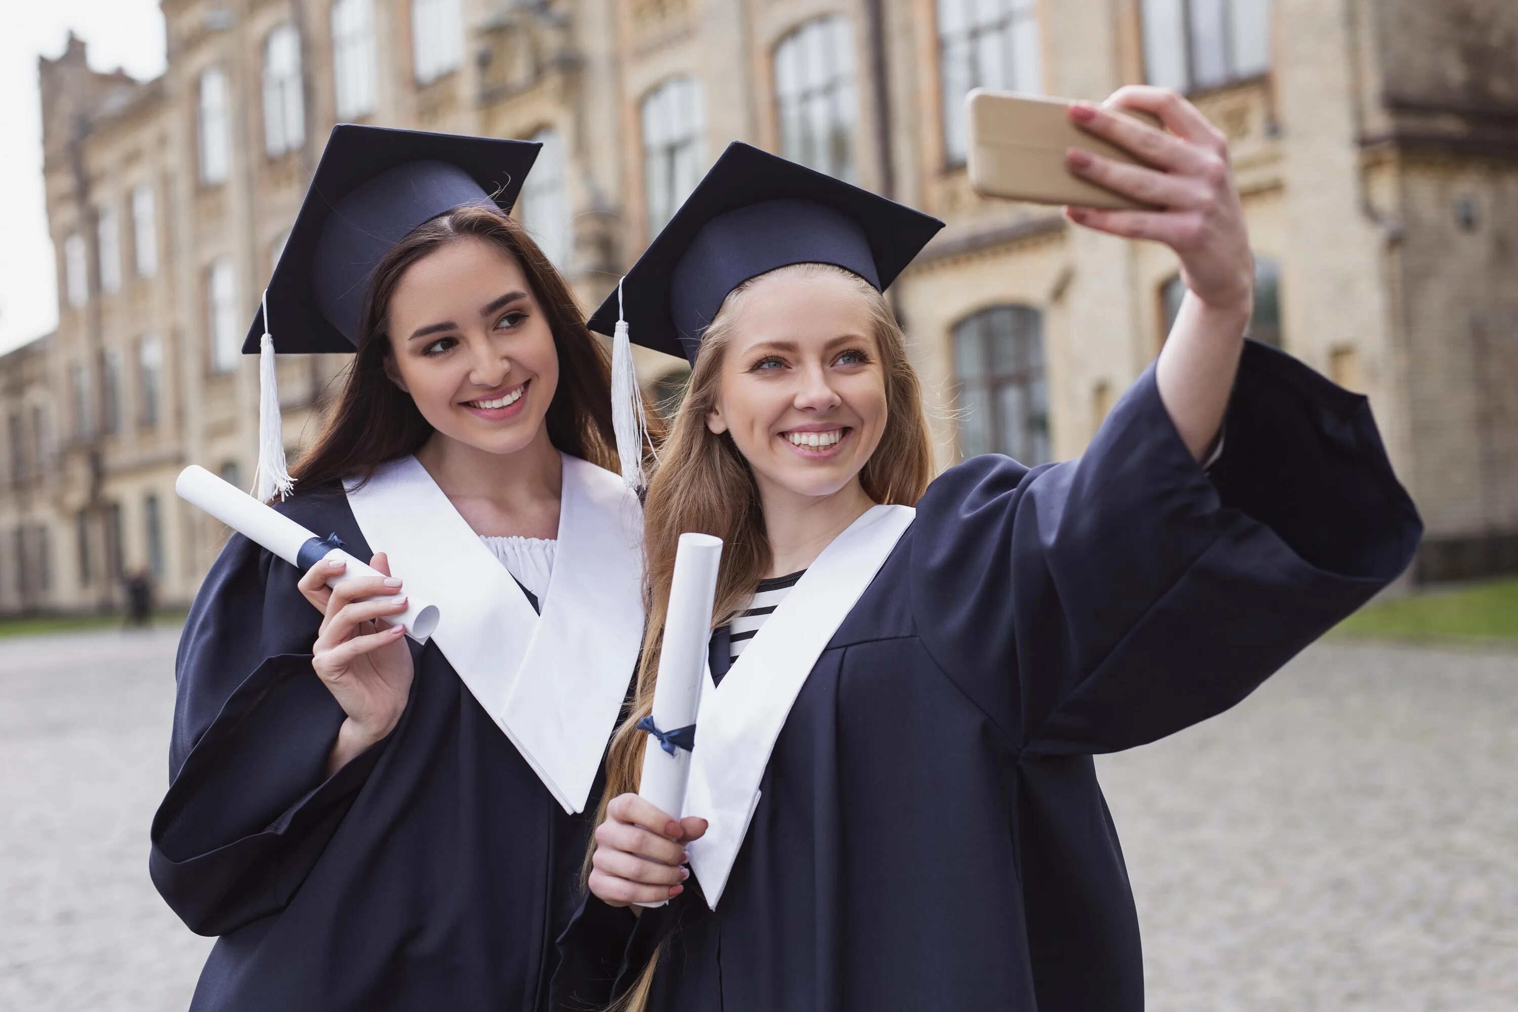
<path id="1" fill-rule="evenodd" d="M 1143 1007 L 1091 756 L 1236 704 L 1394 580 L 1421 525 L 1365 398 L 1242 338 L 1222 137 L 1170 93 L 1111 103 L 1167 129 L 1072 115 L 1152 168 L 1070 167 L 1160 209 L 1067 214 L 1169 244 L 1190 293 L 1078 460 L 931 481 L 880 294 L 938 228 L 914 211 L 733 146 L 628 273 L 633 338 L 679 340 L 694 372 L 648 490 L 650 630 L 559 1000 Z M 635 794 L 638 724 L 691 530 L 727 548 L 665 813 Z"/>

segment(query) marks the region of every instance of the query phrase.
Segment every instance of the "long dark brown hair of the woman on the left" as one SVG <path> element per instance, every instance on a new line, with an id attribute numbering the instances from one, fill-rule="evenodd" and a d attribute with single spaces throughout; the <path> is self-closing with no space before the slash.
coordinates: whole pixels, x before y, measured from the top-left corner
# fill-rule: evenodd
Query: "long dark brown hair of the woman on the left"
<path id="1" fill-rule="evenodd" d="M 606 346 L 584 326 L 569 285 L 518 222 L 495 208 L 463 205 L 416 226 L 375 267 L 358 317 L 358 354 L 326 426 L 291 469 L 299 484 L 314 489 L 349 476 L 367 481 L 375 467 L 414 454 L 433 434 L 411 394 L 386 376 L 386 360 L 393 354 L 387 332 L 390 299 L 411 264 L 461 238 L 483 240 L 515 259 L 548 319 L 559 354 L 559 387 L 543 419 L 550 442 L 566 454 L 618 469 Z M 657 411 L 648 410 L 648 419 L 656 426 Z"/>

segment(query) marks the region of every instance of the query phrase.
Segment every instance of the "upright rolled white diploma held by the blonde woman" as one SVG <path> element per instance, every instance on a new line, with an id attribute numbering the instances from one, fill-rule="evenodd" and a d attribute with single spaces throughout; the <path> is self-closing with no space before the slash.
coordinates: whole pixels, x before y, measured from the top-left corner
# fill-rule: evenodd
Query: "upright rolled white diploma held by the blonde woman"
<path id="1" fill-rule="evenodd" d="M 682 534 L 674 555 L 669 586 L 669 613 L 665 618 L 663 648 L 659 651 L 659 680 L 654 683 L 654 727 L 660 731 L 695 724 L 695 709 L 706 674 L 706 649 L 712 637 L 712 599 L 716 596 L 716 566 L 723 560 L 723 539 L 710 534 Z M 685 786 L 691 778 L 691 753 L 677 748 L 674 756 L 653 734 L 644 745 L 644 775 L 638 795 L 671 818 L 680 818 Z M 656 907 L 666 901 L 642 903 Z"/>

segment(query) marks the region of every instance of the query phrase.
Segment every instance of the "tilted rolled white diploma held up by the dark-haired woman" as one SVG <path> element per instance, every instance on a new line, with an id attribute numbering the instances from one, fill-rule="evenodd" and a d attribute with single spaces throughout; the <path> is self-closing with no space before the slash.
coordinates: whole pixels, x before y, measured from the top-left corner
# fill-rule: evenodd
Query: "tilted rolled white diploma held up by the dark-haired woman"
<path id="1" fill-rule="evenodd" d="M 310 542 L 322 540 L 290 517 L 272 510 L 237 486 L 222 481 L 197 464 L 190 464 L 179 472 L 179 478 L 175 481 L 175 492 L 185 502 L 200 507 L 247 540 L 267 548 L 298 569 L 302 567 L 301 549 Z M 348 569 L 340 577 L 328 580 L 328 587 L 335 587 L 345 580 L 358 577 L 384 575 L 340 548 L 323 552 L 317 561 L 329 558 L 343 560 L 348 563 Z M 407 598 L 405 611 L 386 618 L 386 622 L 404 624 L 407 636 L 417 643 L 425 643 L 437 628 L 437 607 L 417 601 L 414 595 L 407 595 Z"/>

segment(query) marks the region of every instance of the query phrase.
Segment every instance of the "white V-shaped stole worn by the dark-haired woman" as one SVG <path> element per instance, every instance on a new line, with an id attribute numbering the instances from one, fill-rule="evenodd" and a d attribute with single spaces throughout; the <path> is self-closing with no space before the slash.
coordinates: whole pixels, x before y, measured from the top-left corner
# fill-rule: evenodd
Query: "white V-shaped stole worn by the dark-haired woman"
<path id="1" fill-rule="evenodd" d="M 644 634 L 642 510 L 622 479 L 563 458 L 559 546 L 533 611 L 414 457 L 348 504 L 402 592 L 436 604 L 433 640 L 565 812 L 583 812 Z"/>

